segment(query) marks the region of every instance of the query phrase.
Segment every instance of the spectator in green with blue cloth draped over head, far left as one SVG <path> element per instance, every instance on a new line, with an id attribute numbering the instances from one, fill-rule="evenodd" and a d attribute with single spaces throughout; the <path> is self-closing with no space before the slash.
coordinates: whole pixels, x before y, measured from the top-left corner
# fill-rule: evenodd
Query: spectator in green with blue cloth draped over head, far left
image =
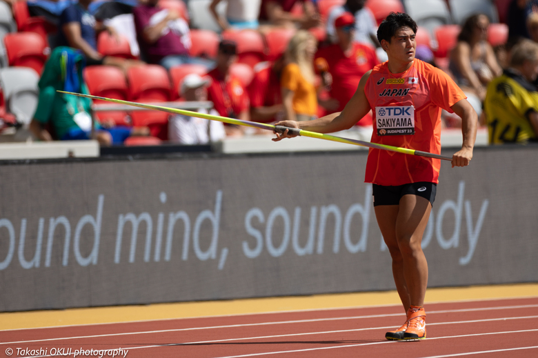
<path id="1" fill-rule="evenodd" d="M 58 47 L 52 51 L 39 79 L 39 102 L 30 131 L 41 141 L 83 140 L 94 138 L 104 146 L 119 144 L 130 135 L 148 135 L 149 129 L 109 128 L 92 120 L 92 101 L 84 97 L 63 95 L 57 90 L 89 94 L 83 79 L 84 57 L 81 51 L 68 47 Z M 92 126 L 92 123 L 95 123 Z M 47 128 L 52 129 L 52 135 Z"/>

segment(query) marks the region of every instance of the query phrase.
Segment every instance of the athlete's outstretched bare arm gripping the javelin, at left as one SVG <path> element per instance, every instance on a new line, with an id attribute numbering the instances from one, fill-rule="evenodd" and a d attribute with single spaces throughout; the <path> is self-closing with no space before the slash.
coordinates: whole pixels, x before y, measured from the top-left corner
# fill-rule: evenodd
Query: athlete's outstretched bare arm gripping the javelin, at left
<path id="1" fill-rule="evenodd" d="M 315 119 L 313 121 L 281 121 L 277 123 L 277 126 L 284 126 L 290 128 L 299 128 L 301 130 L 309 130 L 311 132 L 318 133 L 332 133 L 339 132 L 340 130 L 346 130 L 355 126 L 355 124 L 366 116 L 370 112 L 370 103 L 366 99 L 366 94 L 364 93 L 364 88 L 366 87 L 366 82 L 370 77 L 372 71 L 366 72 L 357 86 L 355 95 L 346 104 L 346 107 L 343 108 L 341 112 L 332 113 Z M 273 138 L 273 141 L 279 141 L 284 138 L 296 137 L 295 135 L 288 135 L 288 130 L 285 132 L 277 133 L 276 138 Z"/>

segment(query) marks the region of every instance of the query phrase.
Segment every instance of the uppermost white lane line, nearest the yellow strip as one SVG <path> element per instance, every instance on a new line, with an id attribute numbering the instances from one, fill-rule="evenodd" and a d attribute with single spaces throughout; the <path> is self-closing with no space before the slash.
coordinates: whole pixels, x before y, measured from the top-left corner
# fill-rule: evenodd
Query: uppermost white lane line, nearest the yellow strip
<path id="1" fill-rule="evenodd" d="M 437 304 L 468 304 L 471 302 L 491 302 L 491 301 L 507 301 L 507 300 L 517 300 L 517 299 L 535 299 L 537 296 L 515 296 L 515 297 L 493 297 L 486 299 L 461 299 L 456 301 L 431 301 L 428 302 L 428 305 L 437 305 Z M 103 322 L 103 323 L 93 323 L 93 324 L 66 324 L 63 326 L 46 326 L 46 327 L 34 327 L 34 328 L 11 328 L 6 330 L 0 330 L 0 332 L 11 331 L 11 330 L 43 330 L 49 328 L 67 328 L 67 327 L 83 327 L 83 326 L 105 326 L 112 324 L 132 324 L 132 323 L 144 323 L 144 322 L 154 322 L 154 321 L 175 321 L 175 320 L 185 320 L 185 319 L 206 319 L 206 318 L 222 318 L 222 317 L 242 317 L 242 316 L 255 316 L 255 315 L 279 315 L 282 313 L 301 313 L 301 312 L 325 312 L 332 310 L 363 310 L 368 308 L 383 308 L 383 307 L 400 307 L 401 304 L 383 304 L 383 305 L 371 305 L 371 306 L 346 306 L 346 307 L 328 307 L 328 308 L 308 308 L 305 310 L 281 310 L 281 311 L 272 311 L 272 312 L 248 312 L 248 313 L 235 313 L 232 315 L 210 315 L 210 316 L 201 316 L 201 317 L 171 317 L 171 318 L 159 318 L 159 319 L 139 319 L 135 321 L 121 321 L 121 322 Z M 527 305 L 529 307 L 535 307 L 536 305 Z M 508 306 L 510 307 L 510 306 Z M 514 306 L 514 307 L 524 307 L 524 306 Z M 99 307 L 96 307 L 99 308 Z M 471 309 L 469 309 L 471 310 Z M 432 313 L 433 311 L 429 312 Z M 12 312 L 2 312 L 2 314 L 9 315 Z"/>

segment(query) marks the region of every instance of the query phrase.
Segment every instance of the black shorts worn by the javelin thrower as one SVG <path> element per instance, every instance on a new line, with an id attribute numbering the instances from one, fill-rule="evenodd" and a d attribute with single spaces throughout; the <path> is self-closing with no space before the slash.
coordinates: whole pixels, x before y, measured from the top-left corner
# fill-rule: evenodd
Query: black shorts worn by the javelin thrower
<path id="1" fill-rule="evenodd" d="M 372 195 L 374 196 L 374 206 L 398 205 L 403 195 L 417 195 L 432 203 L 435 201 L 437 184 L 429 181 L 419 181 L 418 183 L 403 184 L 403 186 L 378 186 L 372 184 Z"/>

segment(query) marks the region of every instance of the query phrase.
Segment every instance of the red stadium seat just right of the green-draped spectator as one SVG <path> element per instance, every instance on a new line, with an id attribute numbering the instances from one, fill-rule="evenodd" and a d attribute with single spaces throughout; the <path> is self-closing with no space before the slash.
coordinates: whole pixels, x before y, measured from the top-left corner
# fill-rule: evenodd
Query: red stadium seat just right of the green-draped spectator
<path id="1" fill-rule="evenodd" d="M 113 66 L 88 66 L 84 69 L 84 79 L 90 90 L 90 95 L 126 100 L 128 98 L 125 75 Z M 107 101 L 94 99 L 94 103 L 110 104 Z M 130 117 L 126 111 L 95 112 L 99 121 L 112 119 L 117 126 L 131 126 Z"/>

